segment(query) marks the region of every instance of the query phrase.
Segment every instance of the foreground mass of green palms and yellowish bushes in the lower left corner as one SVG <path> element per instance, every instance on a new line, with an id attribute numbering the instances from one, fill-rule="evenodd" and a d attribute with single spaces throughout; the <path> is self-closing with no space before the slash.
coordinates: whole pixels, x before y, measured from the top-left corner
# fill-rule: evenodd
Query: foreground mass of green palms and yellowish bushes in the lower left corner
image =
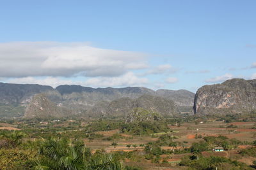
<path id="1" fill-rule="evenodd" d="M 2 169 L 122 169 L 113 154 L 92 154 L 83 141 L 66 138 L 23 141 L 19 131 L 1 131 Z"/>

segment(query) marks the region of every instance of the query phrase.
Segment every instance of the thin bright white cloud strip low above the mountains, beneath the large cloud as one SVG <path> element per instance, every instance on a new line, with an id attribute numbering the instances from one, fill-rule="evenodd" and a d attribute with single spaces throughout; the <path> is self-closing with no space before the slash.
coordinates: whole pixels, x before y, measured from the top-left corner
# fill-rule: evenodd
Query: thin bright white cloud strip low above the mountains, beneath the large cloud
<path id="1" fill-rule="evenodd" d="M 143 86 L 148 83 L 147 78 L 138 78 L 132 72 L 125 73 L 122 76 L 117 77 L 98 77 L 89 78 L 84 81 L 72 81 L 65 80 L 60 77 L 24 77 L 24 78 L 11 78 L 6 80 L 8 83 L 19 83 L 19 84 L 40 84 L 40 85 L 50 85 L 51 87 L 57 87 L 58 85 L 82 85 L 89 87 L 126 87 L 126 86 Z"/>

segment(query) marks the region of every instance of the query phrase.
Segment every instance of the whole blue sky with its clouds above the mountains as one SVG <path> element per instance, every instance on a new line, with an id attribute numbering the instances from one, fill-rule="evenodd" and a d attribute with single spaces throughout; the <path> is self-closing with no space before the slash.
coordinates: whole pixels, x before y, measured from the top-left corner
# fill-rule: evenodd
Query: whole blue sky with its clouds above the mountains
<path id="1" fill-rule="evenodd" d="M 0 81 L 186 89 L 256 78 L 255 0 L 2 0 Z"/>

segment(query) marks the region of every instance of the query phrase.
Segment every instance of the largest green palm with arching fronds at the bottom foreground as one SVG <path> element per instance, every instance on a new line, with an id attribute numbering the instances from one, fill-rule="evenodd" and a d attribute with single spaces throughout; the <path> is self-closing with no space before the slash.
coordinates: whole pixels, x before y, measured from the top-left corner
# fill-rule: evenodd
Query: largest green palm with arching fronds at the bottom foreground
<path id="1" fill-rule="evenodd" d="M 66 139 L 48 139 L 40 147 L 39 155 L 43 158 L 37 162 L 36 169 L 84 169 L 90 150 L 82 143 L 70 145 Z"/>

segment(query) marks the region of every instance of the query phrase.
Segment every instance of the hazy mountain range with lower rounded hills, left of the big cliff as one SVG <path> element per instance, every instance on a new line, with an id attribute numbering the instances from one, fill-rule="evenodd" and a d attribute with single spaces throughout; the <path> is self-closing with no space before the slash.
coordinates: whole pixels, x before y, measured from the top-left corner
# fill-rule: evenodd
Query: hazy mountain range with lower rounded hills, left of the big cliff
<path id="1" fill-rule="evenodd" d="M 172 116 L 192 111 L 194 97 L 188 90 L 0 83 L 0 117 L 124 117 L 138 107 Z"/>

